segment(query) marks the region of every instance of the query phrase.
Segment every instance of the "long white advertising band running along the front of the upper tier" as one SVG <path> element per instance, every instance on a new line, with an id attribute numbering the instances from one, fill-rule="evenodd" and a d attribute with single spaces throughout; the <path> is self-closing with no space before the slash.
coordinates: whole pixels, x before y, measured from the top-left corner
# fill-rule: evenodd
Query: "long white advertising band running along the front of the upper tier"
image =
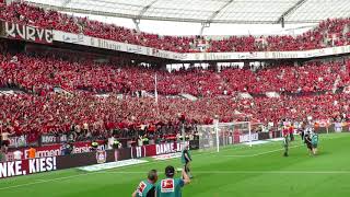
<path id="1" fill-rule="evenodd" d="M 54 31 L 54 40 L 84 45 L 96 48 L 118 50 L 131 54 L 153 56 L 179 61 L 203 61 L 203 60 L 245 60 L 245 59 L 305 59 L 314 57 L 334 56 L 350 53 L 350 45 L 328 47 L 312 50 L 295 51 L 247 51 L 247 53 L 174 53 L 155 49 L 109 39 Z"/>

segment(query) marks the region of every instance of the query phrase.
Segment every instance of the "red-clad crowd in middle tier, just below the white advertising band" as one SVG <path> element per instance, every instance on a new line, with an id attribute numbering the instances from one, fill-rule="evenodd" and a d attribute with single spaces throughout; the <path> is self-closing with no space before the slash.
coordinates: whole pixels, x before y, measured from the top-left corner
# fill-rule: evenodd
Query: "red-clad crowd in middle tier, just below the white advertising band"
<path id="1" fill-rule="evenodd" d="M 301 66 L 279 66 L 252 71 L 228 68 L 214 70 L 180 70 L 170 73 L 145 67 L 120 68 L 114 63 L 96 63 L 92 60 L 61 60 L 52 56 L 14 57 L 0 55 L 0 85 L 16 85 L 39 95 L 46 95 L 55 86 L 67 91 L 93 93 L 132 94 L 139 91 L 177 95 L 187 93 L 208 97 L 235 95 L 236 92 L 265 94 L 314 93 L 331 91 L 336 85 L 349 83 L 350 61 L 311 61 Z"/>

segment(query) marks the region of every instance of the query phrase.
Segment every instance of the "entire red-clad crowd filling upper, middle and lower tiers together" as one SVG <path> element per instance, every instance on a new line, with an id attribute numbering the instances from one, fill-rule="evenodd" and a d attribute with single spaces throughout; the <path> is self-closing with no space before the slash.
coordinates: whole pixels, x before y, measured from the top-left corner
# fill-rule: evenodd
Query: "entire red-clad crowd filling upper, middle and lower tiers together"
<path id="1" fill-rule="evenodd" d="M 350 38 L 348 19 L 324 21 L 296 37 L 231 36 L 221 40 L 137 33 L 24 3 L 1 4 L 0 20 L 179 53 L 200 51 L 198 44 L 206 45 L 207 51 L 301 50 L 348 45 Z M 221 72 L 198 69 L 170 73 L 95 63 L 89 59 L 71 61 L 54 56 L 0 55 L 0 88 L 15 86 L 28 92 L 15 96 L 0 94 L 0 130 L 28 134 L 35 140 L 39 134 L 72 129 L 88 136 L 101 136 L 105 130 L 148 125 L 148 130 L 154 131 L 160 125 L 178 126 L 179 114 L 194 124 L 211 124 L 217 115 L 221 121 L 249 117 L 262 123 L 278 123 L 283 117 L 298 120 L 307 116 L 314 119 L 343 117 L 349 114 L 350 95 L 330 92 L 349 85 L 349 69 L 350 61 L 310 61 L 257 71 L 229 68 Z M 158 104 L 154 99 L 130 96 L 139 91 L 154 92 L 155 76 L 161 95 Z M 55 94 L 55 86 L 72 92 L 74 96 Z M 252 100 L 238 100 L 236 94 L 270 91 L 287 94 Z M 96 93 L 112 95 L 101 99 Z M 120 100 L 116 93 L 127 97 Z M 192 94 L 199 100 L 166 97 L 179 93 Z M 236 116 L 241 113 L 244 116 Z"/>

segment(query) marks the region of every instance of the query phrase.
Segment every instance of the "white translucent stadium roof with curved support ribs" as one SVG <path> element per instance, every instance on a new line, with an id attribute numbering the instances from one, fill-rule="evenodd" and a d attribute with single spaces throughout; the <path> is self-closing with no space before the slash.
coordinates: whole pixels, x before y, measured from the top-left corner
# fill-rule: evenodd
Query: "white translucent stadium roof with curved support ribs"
<path id="1" fill-rule="evenodd" d="M 198 23 L 317 23 L 350 16 L 349 0 L 26 0 L 59 11 Z"/>

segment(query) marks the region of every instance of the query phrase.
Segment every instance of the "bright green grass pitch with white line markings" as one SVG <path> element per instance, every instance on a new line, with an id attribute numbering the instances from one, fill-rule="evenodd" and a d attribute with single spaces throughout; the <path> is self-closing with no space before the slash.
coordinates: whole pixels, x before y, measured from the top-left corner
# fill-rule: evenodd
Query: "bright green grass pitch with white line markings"
<path id="1" fill-rule="evenodd" d="M 220 153 L 192 152 L 191 184 L 187 197 L 348 197 L 350 195 L 350 134 L 320 136 L 319 155 L 311 157 L 300 139 L 290 157 L 281 142 L 234 146 Z M 0 181 L 0 195 L 12 197 L 128 197 L 150 169 L 179 159 L 86 173 L 75 169 Z"/>

